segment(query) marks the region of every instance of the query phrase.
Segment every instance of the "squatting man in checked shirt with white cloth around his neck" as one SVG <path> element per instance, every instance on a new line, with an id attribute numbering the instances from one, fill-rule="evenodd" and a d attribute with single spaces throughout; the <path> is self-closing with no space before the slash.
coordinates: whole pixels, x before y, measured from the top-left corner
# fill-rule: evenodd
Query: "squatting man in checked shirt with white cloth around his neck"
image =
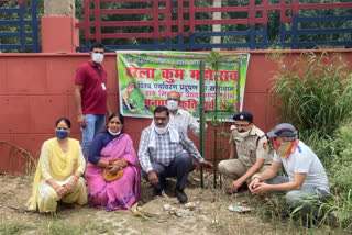
<path id="1" fill-rule="evenodd" d="M 191 158 L 183 149 L 195 156 L 204 167 L 212 167 L 211 163 L 200 156 L 185 132 L 169 124 L 168 109 L 157 107 L 154 110 L 154 124 L 143 130 L 140 141 L 142 175 L 154 186 L 157 194 L 164 191 L 166 178 L 176 177 L 175 194 L 180 203 L 186 203 L 187 195 L 184 190 L 191 168 Z"/>

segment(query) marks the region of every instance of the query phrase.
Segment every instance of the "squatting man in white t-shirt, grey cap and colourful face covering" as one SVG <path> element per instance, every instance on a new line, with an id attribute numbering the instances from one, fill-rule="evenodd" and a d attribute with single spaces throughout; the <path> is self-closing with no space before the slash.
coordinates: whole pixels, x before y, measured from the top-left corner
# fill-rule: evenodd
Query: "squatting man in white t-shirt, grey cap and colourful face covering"
<path id="1" fill-rule="evenodd" d="M 290 208 L 317 216 L 314 201 L 329 193 L 328 177 L 317 155 L 298 139 L 295 126 L 288 123 L 277 125 L 267 137 L 274 143 L 275 152 L 271 167 L 250 184 L 252 193 L 287 192 L 286 203 Z M 288 177 L 276 176 L 284 165 Z"/>

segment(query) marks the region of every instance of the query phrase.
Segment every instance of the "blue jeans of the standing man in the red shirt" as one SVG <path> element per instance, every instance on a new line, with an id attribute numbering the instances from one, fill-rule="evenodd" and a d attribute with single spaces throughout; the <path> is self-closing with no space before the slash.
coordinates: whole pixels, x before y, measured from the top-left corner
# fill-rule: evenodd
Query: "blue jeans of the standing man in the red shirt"
<path id="1" fill-rule="evenodd" d="M 106 115 L 102 114 L 85 114 L 87 122 L 86 127 L 80 127 L 81 138 L 81 152 L 84 153 L 86 163 L 88 161 L 89 148 L 94 137 L 102 131 L 106 125 Z"/>

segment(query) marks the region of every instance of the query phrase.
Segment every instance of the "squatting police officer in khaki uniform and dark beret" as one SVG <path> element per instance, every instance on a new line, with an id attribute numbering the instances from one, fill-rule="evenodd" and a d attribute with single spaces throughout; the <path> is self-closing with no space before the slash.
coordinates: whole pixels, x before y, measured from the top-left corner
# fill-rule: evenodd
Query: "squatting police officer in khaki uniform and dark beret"
<path id="1" fill-rule="evenodd" d="M 233 116 L 234 126 L 231 126 L 230 157 L 219 163 L 219 171 L 232 183 L 229 192 L 235 193 L 244 182 L 248 184 L 257 172 L 263 171 L 272 163 L 268 155 L 268 143 L 265 133 L 253 124 L 250 112 L 239 112 Z"/>

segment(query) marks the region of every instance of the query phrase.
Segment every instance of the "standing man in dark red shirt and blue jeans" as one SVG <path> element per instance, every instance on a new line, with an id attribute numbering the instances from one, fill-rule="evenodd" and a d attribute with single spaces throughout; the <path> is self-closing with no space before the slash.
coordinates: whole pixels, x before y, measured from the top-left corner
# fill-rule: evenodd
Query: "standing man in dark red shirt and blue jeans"
<path id="1" fill-rule="evenodd" d="M 86 161 L 94 137 L 106 124 L 106 113 L 111 113 L 107 92 L 108 75 L 101 66 L 103 53 L 102 44 L 92 45 L 91 60 L 79 66 L 76 71 L 75 104 L 77 122 L 82 133 L 81 150 Z"/>

